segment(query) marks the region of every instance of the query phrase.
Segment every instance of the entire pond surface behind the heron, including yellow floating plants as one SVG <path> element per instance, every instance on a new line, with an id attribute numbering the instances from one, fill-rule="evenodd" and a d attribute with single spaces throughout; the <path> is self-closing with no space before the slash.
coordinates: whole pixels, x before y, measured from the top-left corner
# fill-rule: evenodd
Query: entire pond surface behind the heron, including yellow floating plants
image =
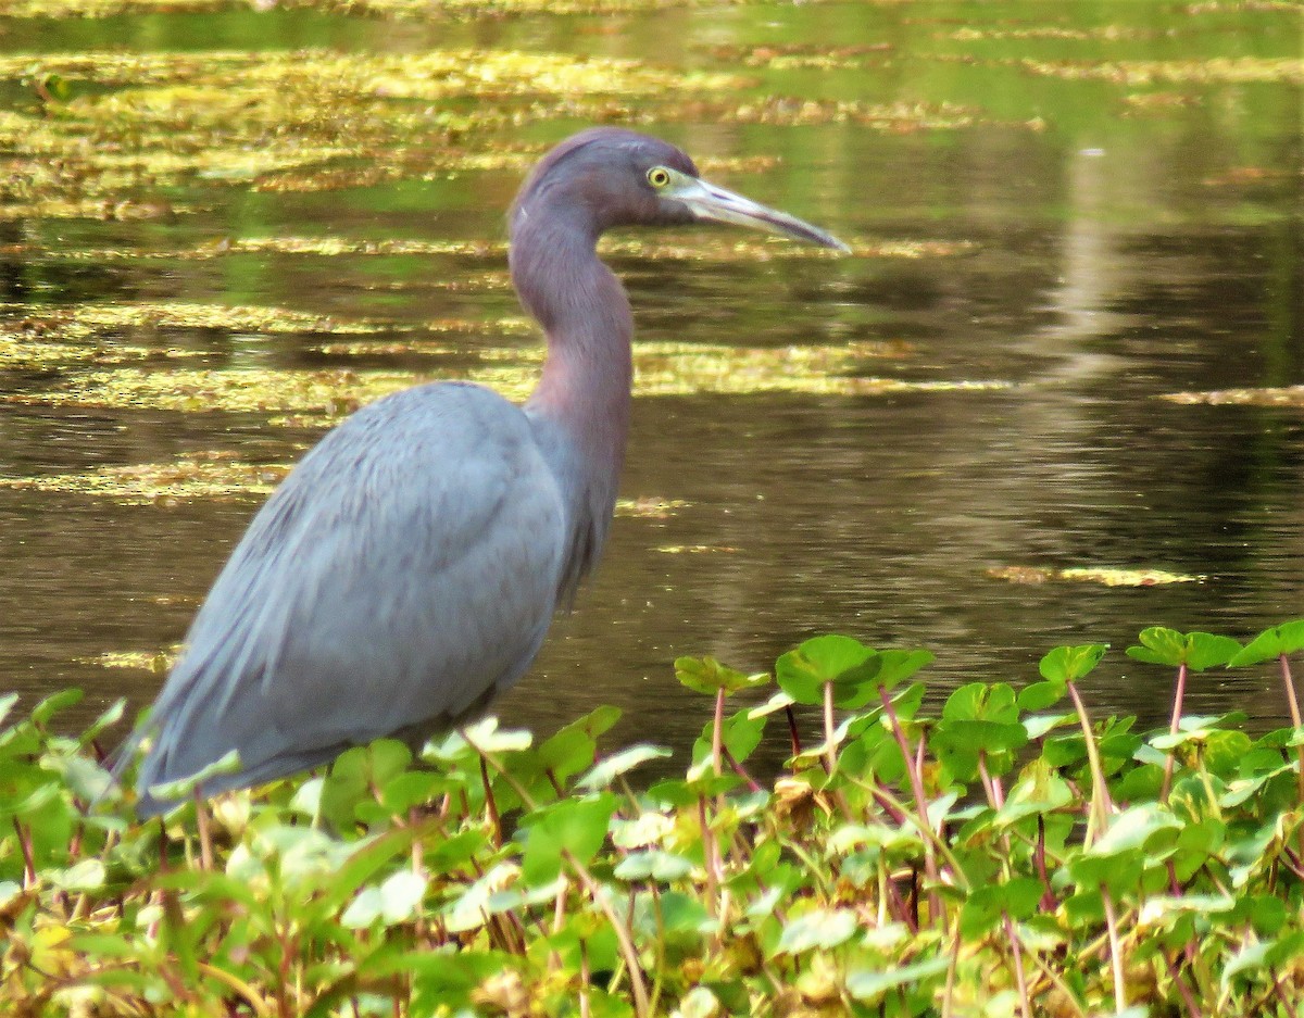
<path id="1" fill-rule="evenodd" d="M 29 704 L 146 704 L 342 412 L 528 391 L 503 211 L 596 121 L 855 255 L 610 239 L 630 502 L 509 723 L 613 703 L 682 747 L 708 705 L 677 656 L 763 670 L 829 631 L 932 649 L 938 691 L 1106 641 L 1093 709 L 1155 723 L 1141 627 L 1304 615 L 1297 4 L 267 7 L 0 5 L 0 684 Z M 1266 671 L 1188 703 L 1284 716 Z"/>

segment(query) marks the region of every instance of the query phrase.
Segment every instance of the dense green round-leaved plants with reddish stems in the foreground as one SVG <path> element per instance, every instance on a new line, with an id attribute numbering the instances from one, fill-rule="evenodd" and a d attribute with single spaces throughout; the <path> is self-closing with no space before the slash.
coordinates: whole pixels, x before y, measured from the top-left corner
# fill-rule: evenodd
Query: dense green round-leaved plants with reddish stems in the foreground
<path id="1" fill-rule="evenodd" d="M 1296 1015 L 1301 648 L 1304 620 L 1144 631 L 1127 653 L 1176 684 L 1141 735 L 1080 695 L 1103 645 L 932 713 L 930 653 L 824 636 L 760 706 L 730 700 L 769 675 L 678 661 L 713 716 L 642 791 L 668 751 L 599 756 L 599 709 L 539 744 L 493 721 L 420 760 L 378 742 L 146 824 L 102 766 L 121 704 L 68 738 L 77 693 L 53 696 L 0 730 L 0 1011 Z M 1264 662 L 1294 727 L 1181 716 L 1192 671 Z M 767 739 L 790 760 L 762 782 Z"/>

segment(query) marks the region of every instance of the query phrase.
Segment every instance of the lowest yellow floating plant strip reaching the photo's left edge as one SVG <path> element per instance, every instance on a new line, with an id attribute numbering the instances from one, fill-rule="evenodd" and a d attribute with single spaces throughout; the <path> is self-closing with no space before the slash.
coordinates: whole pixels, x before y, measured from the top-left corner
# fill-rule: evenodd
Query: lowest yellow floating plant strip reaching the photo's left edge
<path id="1" fill-rule="evenodd" d="M 98 467 L 80 473 L 0 478 L 0 487 L 61 491 L 126 506 L 175 506 L 197 499 L 258 498 L 289 472 L 287 464 L 248 463 L 235 452 L 190 452 L 170 463 Z"/>

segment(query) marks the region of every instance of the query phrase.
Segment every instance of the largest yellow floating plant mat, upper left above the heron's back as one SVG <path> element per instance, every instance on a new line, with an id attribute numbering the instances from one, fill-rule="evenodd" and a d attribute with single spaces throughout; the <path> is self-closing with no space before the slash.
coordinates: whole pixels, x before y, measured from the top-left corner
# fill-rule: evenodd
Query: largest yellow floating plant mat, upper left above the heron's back
<path id="1" fill-rule="evenodd" d="M 0 56 L 4 81 L 43 103 L 0 111 L 0 216 L 9 219 L 175 215 L 192 206 L 141 202 L 140 192 L 193 180 L 329 190 L 519 171 L 531 150 L 469 150 L 463 139 L 527 109 L 548 116 L 540 104 L 602 120 L 604 103 L 742 85 L 732 74 L 512 50 L 17 53 Z M 456 99 L 475 106 L 447 108 Z"/>

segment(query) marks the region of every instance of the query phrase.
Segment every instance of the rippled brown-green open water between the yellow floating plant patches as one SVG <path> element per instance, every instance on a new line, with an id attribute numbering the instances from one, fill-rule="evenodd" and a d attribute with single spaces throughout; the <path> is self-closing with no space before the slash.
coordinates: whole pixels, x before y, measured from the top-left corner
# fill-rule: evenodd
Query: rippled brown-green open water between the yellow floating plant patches
<path id="1" fill-rule="evenodd" d="M 1121 653 L 1141 627 L 1245 637 L 1304 614 L 1304 409 L 1158 399 L 1304 383 L 1304 18 L 1264 7 L 752 4 L 456 22 L 232 8 L 8 20 L 0 56 L 473 46 L 747 82 L 739 93 L 601 102 L 580 93 L 540 108 L 529 96 L 455 94 L 411 113 L 420 125 L 497 103 L 506 120 L 477 128 L 482 149 L 515 160 L 330 190 L 261 190 L 267 175 L 200 172 L 156 192 L 134 182 L 123 197 L 143 218 L 8 215 L 5 314 L 12 326 L 47 305 L 254 305 L 378 319 L 396 340 L 406 325 L 485 323 L 445 338 L 445 360 L 323 353 L 322 336 L 293 331 L 124 325 L 99 340 L 106 353 L 136 344 L 196 355 L 151 362 L 158 370 L 438 374 L 460 364 L 459 344 L 472 353 L 531 343 L 502 327 L 519 312 L 499 248 L 325 257 L 222 245 L 498 241 L 522 167 L 544 145 L 599 115 L 638 123 L 715 163 L 721 182 L 861 249 L 824 259 L 754 245 L 764 258 L 741 258 L 719 231 L 657 239 L 700 245 L 704 259 L 617 248 L 610 261 L 640 340 L 778 351 L 780 374 L 788 347 L 883 342 L 896 356 L 836 370 L 952 385 L 636 400 L 622 490 L 685 504 L 665 519 L 615 521 L 596 581 L 502 704 L 505 717 L 549 729 L 614 703 L 634 720 L 627 735 L 683 744 L 707 712 L 674 682 L 675 656 L 760 670 L 806 636 L 840 631 L 934 649 L 939 688 L 1024 682 L 1056 643 L 1108 641 L 1093 705 L 1154 722 L 1170 676 Z M 93 77 L 74 82 L 82 94 L 124 87 Z M 40 109 L 21 68 L 3 91 L 18 111 Z M 443 151 L 413 138 L 395 159 Z M 22 143 L 7 156 L 44 158 Z M 218 245 L 213 257 L 179 254 L 205 245 Z M 321 433 L 248 409 L 13 401 L 100 366 L 0 370 L 0 478 L 198 450 L 278 463 Z M 953 385 L 971 382 L 1000 385 Z M 180 640 L 256 506 L 0 487 L 0 683 L 33 693 L 83 686 L 87 712 L 123 693 L 143 705 L 159 675 L 89 662 Z M 1205 579 L 1106 587 L 992 575 L 1009 567 Z M 1200 678 L 1189 704 L 1239 706 L 1256 725 L 1284 713 L 1270 678 L 1249 673 Z"/>

